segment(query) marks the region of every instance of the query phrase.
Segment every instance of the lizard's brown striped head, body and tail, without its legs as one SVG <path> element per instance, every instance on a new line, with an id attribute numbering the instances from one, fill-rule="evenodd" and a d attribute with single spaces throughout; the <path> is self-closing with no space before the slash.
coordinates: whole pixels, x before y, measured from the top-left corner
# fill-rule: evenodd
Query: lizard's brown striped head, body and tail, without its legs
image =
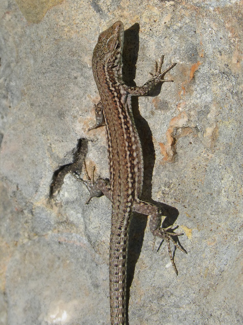
<path id="1" fill-rule="evenodd" d="M 126 324 L 127 255 L 132 206 L 143 183 L 143 156 L 131 98 L 122 80 L 121 21 L 99 35 L 92 69 L 106 126 L 112 218 L 109 249 L 111 324 Z"/>

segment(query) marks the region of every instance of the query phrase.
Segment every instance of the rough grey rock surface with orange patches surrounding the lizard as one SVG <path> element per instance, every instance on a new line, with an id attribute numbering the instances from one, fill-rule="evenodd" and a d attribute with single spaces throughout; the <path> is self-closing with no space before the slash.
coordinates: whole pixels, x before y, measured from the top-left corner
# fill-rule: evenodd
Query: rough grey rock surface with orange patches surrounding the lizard
<path id="1" fill-rule="evenodd" d="M 111 206 L 84 205 L 68 171 L 86 157 L 108 175 L 104 128 L 87 132 L 99 100 L 91 57 L 118 19 L 129 85 L 161 54 L 178 62 L 174 83 L 133 107 L 143 199 L 188 251 L 175 252 L 176 277 L 166 245 L 151 250 L 147 217 L 134 216 L 129 324 L 243 323 L 242 12 L 233 0 L 0 2 L 0 325 L 109 324 Z"/>

